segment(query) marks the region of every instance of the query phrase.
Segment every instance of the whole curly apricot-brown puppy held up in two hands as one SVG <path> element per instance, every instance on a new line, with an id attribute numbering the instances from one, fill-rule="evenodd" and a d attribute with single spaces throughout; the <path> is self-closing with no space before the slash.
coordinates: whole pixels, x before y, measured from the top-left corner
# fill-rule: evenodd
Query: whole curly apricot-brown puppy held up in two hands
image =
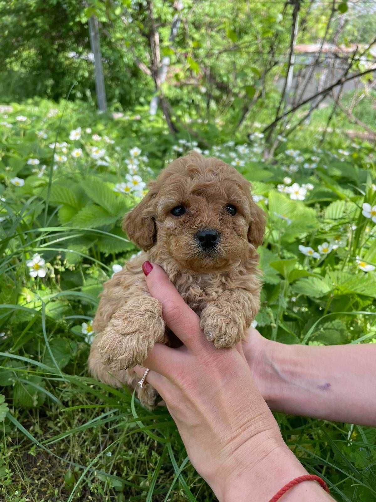
<path id="1" fill-rule="evenodd" d="M 104 284 L 93 322 L 98 334 L 89 367 L 96 378 L 134 388 L 138 377 L 130 368 L 142 364 L 155 342 L 168 342 L 161 306 L 141 270 L 145 260 L 165 270 L 216 347 L 243 338 L 259 308 L 256 249 L 265 229 L 250 188 L 233 167 L 196 152 L 174 160 L 149 184 L 123 221 L 143 253 Z M 137 392 L 143 404 L 154 404 L 150 385 Z"/>

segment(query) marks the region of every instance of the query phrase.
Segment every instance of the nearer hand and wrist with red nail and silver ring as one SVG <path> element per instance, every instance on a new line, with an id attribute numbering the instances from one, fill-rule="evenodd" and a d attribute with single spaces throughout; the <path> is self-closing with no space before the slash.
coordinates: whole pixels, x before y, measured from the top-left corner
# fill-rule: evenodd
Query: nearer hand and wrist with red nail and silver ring
<path id="1" fill-rule="evenodd" d="M 147 382 L 164 400 L 187 454 L 220 502 L 269 500 L 282 486 L 307 474 L 283 442 L 278 425 L 257 389 L 241 344 L 217 349 L 200 328 L 163 270 L 146 277 L 167 326 L 184 344 L 155 344 L 144 366 Z M 136 366 L 141 377 L 145 367 Z M 333 500 L 317 483 L 290 489 L 286 502 Z"/>

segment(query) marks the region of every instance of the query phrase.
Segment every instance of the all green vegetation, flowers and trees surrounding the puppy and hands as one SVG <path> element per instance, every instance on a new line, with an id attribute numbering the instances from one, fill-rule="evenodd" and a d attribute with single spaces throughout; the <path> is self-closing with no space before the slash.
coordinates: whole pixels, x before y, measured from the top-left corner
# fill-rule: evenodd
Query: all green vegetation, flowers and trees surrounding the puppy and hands
<path id="1" fill-rule="evenodd" d="M 268 216 L 260 332 L 376 343 L 375 2 L 0 0 L 0 33 L 0 500 L 212 501 L 168 413 L 87 374 L 121 218 L 220 156 Z M 335 499 L 375 500 L 374 429 L 276 418 Z"/>

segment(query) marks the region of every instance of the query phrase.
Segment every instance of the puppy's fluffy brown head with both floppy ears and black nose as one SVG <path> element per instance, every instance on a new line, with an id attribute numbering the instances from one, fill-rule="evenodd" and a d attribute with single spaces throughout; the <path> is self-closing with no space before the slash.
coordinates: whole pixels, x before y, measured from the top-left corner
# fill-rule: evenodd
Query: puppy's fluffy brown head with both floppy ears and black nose
<path id="1" fill-rule="evenodd" d="M 236 169 L 196 152 L 180 157 L 149 184 L 123 221 L 143 250 L 181 270 L 211 272 L 255 255 L 265 229 L 250 183 Z"/>

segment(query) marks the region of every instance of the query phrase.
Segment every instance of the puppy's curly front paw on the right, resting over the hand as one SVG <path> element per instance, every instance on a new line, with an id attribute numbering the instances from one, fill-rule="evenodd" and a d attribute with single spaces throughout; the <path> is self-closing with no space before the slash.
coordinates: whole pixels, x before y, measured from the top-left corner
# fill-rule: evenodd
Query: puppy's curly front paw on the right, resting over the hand
<path id="1" fill-rule="evenodd" d="M 244 320 L 230 309 L 207 305 L 201 314 L 201 329 L 217 348 L 233 347 L 245 332 Z"/>

